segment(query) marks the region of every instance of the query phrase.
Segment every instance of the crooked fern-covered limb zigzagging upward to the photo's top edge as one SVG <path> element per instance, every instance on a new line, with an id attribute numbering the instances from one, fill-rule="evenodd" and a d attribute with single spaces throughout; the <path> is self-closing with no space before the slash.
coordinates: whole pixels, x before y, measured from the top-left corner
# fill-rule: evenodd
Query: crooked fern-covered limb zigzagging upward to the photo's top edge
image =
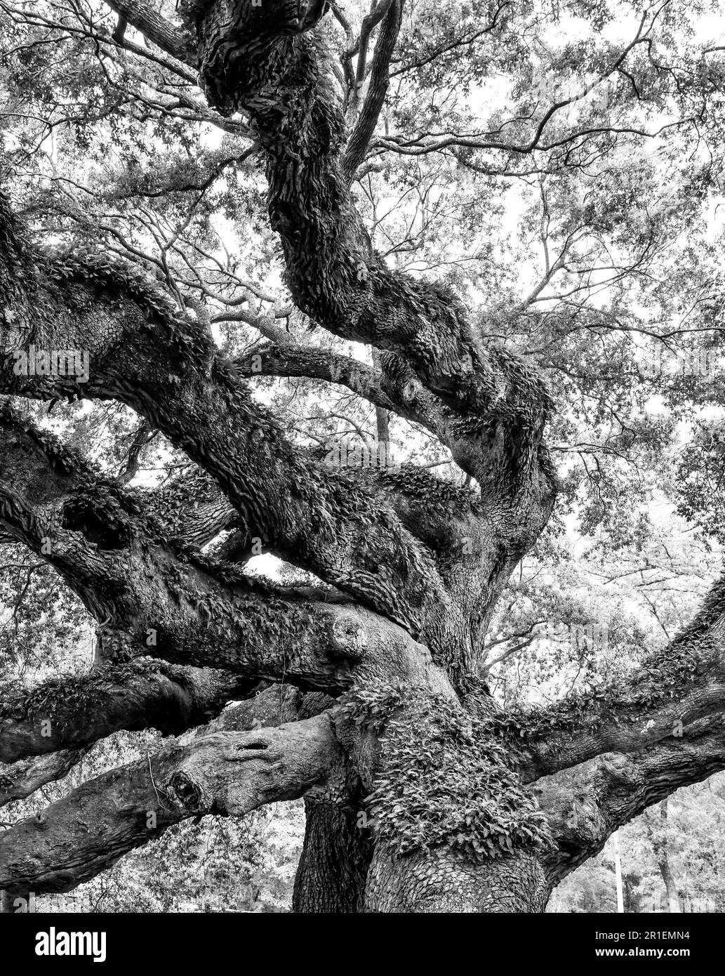
<path id="1" fill-rule="evenodd" d="M 224 113 L 247 110 L 259 134 L 270 219 L 297 304 L 345 339 L 396 353 L 477 427 L 499 495 L 515 495 L 542 460 L 544 385 L 522 362 L 486 346 L 451 292 L 393 273 L 374 255 L 342 172 L 345 121 L 321 42 L 285 35 L 281 0 L 265 5 L 265 17 L 266 31 L 280 23 L 276 37 L 261 32 L 246 2 L 235 8 L 232 30 L 219 4 L 193 29 L 210 103 Z"/>

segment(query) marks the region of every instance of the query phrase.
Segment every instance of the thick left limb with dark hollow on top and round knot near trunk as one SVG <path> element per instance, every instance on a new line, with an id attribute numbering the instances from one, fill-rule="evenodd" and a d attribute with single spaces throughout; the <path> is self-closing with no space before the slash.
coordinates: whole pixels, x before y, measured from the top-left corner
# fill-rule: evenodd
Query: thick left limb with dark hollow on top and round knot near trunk
<path id="1" fill-rule="evenodd" d="M 0 524 L 110 625 L 101 660 L 152 655 L 334 694 L 364 662 L 385 671 L 391 647 L 429 663 L 405 630 L 363 607 L 310 602 L 181 547 L 138 493 L 7 406 L 0 420 Z"/>

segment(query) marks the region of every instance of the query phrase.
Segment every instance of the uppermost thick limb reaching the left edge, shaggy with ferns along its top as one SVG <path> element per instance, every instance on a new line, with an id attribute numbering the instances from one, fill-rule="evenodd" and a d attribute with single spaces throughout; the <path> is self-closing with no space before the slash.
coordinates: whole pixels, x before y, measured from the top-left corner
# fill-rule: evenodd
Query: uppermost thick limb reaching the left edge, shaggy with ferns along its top
<path id="1" fill-rule="evenodd" d="M 89 383 L 25 376 L 13 372 L 8 357 L 0 388 L 36 397 L 80 389 L 134 407 L 206 468 L 266 547 L 442 648 L 445 591 L 426 553 L 393 513 L 343 471 L 310 465 L 198 325 L 175 318 L 160 296 L 140 294 L 139 282 L 109 270 L 99 275 L 101 294 L 89 291 L 90 268 L 71 273 L 72 285 L 67 271 L 58 272 L 64 302 L 55 300 L 52 324 L 39 321 L 15 295 L 9 307 L 10 331 L 17 334 L 27 323 L 30 345 L 90 347 L 95 365 Z M 42 278 L 31 274 L 30 280 L 34 307 L 47 306 Z M 155 319 L 151 328 L 149 317 Z"/>

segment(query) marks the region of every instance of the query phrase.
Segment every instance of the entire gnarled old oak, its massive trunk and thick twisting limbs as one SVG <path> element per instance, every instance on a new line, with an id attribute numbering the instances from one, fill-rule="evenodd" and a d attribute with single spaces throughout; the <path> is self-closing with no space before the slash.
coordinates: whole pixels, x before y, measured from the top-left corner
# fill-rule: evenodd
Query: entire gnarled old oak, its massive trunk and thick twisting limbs
<path id="1" fill-rule="evenodd" d="M 34 247 L 0 195 L 0 392 L 115 400 L 196 466 L 133 490 L 133 461 L 104 476 L 0 409 L 0 544 L 45 559 L 99 625 L 91 674 L 0 703 L 0 797 L 59 778 L 114 730 L 181 735 L 0 834 L 0 888 L 69 890 L 181 819 L 303 796 L 297 912 L 542 912 L 618 826 L 725 767 L 725 584 L 621 686 L 502 713 L 478 667 L 554 504 L 552 400 L 450 289 L 391 271 L 356 211 L 402 0 L 381 4 L 352 133 L 315 29 L 326 4 L 188 0 L 183 27 L 138 0 L 109 5 L 198 68 L 212 107 L 246 114 L 296 305 L 375 353 L 363 367 L 257 322 L 266 343 L 231 360 L 208 316 L 129 268 Z M 28 344 L 89 351 L 88 383 L 14 370 Z M 387 412 L 421 424 L 475 491 L 299 448 L 247 385 L 260 362 L 366 398 L 379 438 Z M 253 539 L 321 585 L 245 574 Z M 224 709 L 260 680 L 271 689 Z M 302 692 L 322 699 L 299 708 Z"/>

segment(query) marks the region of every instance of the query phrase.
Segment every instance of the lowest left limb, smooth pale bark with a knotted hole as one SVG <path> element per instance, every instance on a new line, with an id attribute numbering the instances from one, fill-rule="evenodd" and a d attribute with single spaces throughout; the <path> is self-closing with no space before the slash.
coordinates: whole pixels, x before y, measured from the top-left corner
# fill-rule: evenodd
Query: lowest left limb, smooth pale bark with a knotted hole
<path id="1" fill-rule="evenodd" d="M 326 713 L 253 732 L 194 734 L 0 834 L 0 888 L 68 891 L 172 824 L 295 799 L 338 775 L 341 762 Z"/>

